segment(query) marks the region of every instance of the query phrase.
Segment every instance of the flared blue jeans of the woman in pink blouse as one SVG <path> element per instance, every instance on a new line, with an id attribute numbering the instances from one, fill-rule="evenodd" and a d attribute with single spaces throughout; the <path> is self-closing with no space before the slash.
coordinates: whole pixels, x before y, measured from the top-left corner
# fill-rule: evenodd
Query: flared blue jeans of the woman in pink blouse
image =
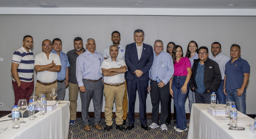
<path id="1" fill-rule="evenodd" d="M 177 129 L 184 130 L 187 128 L 185 100 L 189 92 L 189 83 L 187 93 L 181 93 L 181 87 L 184 85 L 187 76 L 174 76 L 172 80 L 173 100 L 176 107 L 176 126 Z"/>

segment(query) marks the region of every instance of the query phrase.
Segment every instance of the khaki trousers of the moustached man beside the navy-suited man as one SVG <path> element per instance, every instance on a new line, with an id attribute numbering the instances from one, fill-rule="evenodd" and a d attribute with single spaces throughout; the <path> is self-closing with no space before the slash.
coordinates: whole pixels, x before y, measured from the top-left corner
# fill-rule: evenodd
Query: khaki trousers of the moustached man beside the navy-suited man
<path id="1" fill-rule="evenodd" d="M 112 108 L 114 105 L 114 101 L 116 103 L 116 125 L 123 124 L 123 100 L 124 100 L 124 92 L 125 85 L 121 85 L 119 87 L 113 87 L 104 85 L 104 95 L 105 95 L 105 122 L 106 125 L 111 126 L 113 124 L 112 121 Z"/>

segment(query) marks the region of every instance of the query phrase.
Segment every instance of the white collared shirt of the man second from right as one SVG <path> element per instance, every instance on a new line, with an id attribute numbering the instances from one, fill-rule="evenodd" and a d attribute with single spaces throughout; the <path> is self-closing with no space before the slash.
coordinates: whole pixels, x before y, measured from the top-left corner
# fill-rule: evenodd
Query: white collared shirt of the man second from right
<path id="1" fill-rule="evenodd" d="M 227 64 L 227 62 L 230 60 L 230 58 L 228 58 L 227 56 L 219 53 L 218 55 L 216 55 L 216 57 L 213 56 L 213 54 L 211 56 L 209 56 L 209 59 L 212 59 L 213 61 L 217 62 L 219 67 L 220 67 L 220 73 L 221 73 L 221 80 L 224 80 L 224 76 L 225 76 L 225 65 Z"/>

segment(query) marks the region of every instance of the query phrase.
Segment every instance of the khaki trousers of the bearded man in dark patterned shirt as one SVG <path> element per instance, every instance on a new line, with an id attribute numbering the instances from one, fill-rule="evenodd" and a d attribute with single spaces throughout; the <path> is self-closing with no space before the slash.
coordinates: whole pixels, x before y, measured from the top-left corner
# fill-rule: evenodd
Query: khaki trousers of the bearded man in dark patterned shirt
<path id="1" fill-rule="evenodd" d="M 68 82 L 68 101 L 70 102 L 70 120 L 76 120 L 76 107 L 79 87 L 78 84 Z"/>

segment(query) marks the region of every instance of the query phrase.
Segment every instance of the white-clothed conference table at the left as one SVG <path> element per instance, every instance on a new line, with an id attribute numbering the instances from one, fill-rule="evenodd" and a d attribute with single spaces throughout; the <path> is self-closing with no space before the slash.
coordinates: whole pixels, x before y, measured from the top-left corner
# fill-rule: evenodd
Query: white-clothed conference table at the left
<path id="1" fill-rule="evenodd" d="M 26 123 L 20 123 L 19 129 L 12 129 L 12 119 L 8 115 L 0 118 L 0 139 L 67 139 L 69 127 L 69 101 L 60 101 L 58 107 L 47 111 L 45 115 L 36 113 L 35 120 L 23 118 Z M 2 122 L 1 122 L 2 121 Z M 21 118 L 20 118 L 21 121 Z"/>

